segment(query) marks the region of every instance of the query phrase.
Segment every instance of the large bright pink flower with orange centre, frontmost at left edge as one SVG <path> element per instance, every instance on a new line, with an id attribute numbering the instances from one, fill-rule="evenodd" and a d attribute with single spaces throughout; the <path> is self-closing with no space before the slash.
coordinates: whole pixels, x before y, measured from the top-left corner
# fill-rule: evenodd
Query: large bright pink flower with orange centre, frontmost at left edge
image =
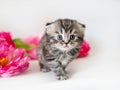
<path id="1" fill-rule="evenodd" d="M 24 49 L 9 47 L 8 55 L 0 59 L 0 76 L 8 77 L 25 71 L 29 58 L 25 56 Z"/>

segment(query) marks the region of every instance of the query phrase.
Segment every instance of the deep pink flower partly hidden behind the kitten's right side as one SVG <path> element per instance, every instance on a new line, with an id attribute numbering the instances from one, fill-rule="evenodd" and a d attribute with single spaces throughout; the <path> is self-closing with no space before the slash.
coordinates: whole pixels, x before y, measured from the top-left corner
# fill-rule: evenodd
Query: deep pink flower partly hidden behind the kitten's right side
<path id="1" fill-rule="evenodd" d="M 89 50 L 90 50 L 89 44 L 86 41 L 84 41 L 82 43 L 82 46 L 80 47 L 80 52 L 79 52 L 78 58 L 87 56 Z"/>

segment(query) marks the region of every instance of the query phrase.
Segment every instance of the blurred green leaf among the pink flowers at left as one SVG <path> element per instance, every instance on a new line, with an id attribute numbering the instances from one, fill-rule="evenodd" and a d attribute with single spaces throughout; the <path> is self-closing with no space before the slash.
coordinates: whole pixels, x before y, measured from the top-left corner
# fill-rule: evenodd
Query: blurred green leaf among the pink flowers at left
<path id="1" fill-rule="evenodd" d="M 34 46 L 28 45 L 24 43 L 21 39 L 16 38 L 13 40 L 17 48 L 25 48 L 26 50 L 30 50 L 31 48 L 34 48 Z"/>

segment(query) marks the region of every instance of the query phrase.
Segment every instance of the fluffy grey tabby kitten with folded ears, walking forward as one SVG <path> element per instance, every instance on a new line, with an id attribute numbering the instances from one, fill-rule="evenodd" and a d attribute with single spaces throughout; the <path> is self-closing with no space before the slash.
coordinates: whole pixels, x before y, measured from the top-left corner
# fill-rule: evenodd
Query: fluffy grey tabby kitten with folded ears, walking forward
<path id="1" fill-rule="evenodd" d="M 58 80 L 66 80 L 67 65 L 77 57 L 83 42 L 85 25 L 71 19 L 46 24 L 37 55 L 43 72 L 54 71 Z"/>

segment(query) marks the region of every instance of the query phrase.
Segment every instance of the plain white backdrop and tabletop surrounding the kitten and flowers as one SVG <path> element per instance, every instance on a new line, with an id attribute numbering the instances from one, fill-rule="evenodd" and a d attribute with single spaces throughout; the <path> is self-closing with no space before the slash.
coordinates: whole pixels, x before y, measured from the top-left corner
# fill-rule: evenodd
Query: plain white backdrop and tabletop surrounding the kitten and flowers
<path id="1" fill-rule="evenodd" d="M 57 18 L 86 24 L 89 56 L 69 65 L 66 81 L 39 72 L 37 61 L 30 62 L 25 73 L 0 78 L 0 90 L 120 90 L 119 0 L 0 0 L 0 30 L 13 37 L 41 36 L 44 24 Z"/>

